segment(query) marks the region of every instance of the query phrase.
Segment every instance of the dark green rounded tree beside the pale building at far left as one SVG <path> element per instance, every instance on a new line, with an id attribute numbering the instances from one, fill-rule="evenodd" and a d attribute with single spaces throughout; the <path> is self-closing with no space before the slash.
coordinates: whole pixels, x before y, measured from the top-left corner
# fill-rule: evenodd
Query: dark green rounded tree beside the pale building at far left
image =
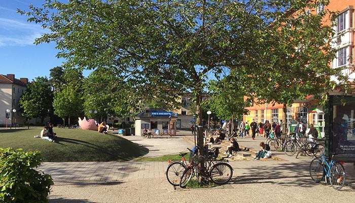
<path id="1" fill-rule="evenodd" d="M 52 111 L 53 92 L 50 82 L 46 77 L 37 77 L 27 84 L 25 93 L 22 94 L 19 104 L 21 114 L 26 120 L 41 118 L 41 123 Z"/>

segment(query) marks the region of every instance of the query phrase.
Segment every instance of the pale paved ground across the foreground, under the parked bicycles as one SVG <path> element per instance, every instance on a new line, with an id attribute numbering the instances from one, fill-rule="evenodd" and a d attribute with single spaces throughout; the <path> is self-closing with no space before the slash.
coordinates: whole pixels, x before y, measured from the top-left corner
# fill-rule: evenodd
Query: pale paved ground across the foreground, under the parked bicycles
<path id="1" fill-rule="evenodd" d="M 352 178 L 336 191 L 311 181 L 308 160 L 230 163 L 234 172 L 229 184 L 176 190 L 165 179 L 166 162 L 44 163 L 41 169 L 55 180 L 50 202 L 353 202 L 355 198 L 350 164 L 346 170 Z"/>

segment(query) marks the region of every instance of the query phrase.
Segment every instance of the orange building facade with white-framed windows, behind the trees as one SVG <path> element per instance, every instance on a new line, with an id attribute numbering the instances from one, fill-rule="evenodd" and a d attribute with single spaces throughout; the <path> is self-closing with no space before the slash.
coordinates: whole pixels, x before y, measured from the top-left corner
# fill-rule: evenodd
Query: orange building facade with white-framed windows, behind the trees
<path id="1" fill-rule="evenodd" d="M 332 37 L 332 46 L 337 50 L 337 53 L 330 68 L 346 66 L 347 69 L 344 70 L 343 74 L 351 79 L 355 78 L 355 73 L 352 72 L 355 32 L 354 8 L 355 0 L 332 0 L 328 6 L 319 4 L 316 11 L 310 11 L 311 13 L 318 13 L 328 9 L 339 13 L 336 19 L 337 25 L 333 27 L 336 35 Z M 330 22 L 326 21 L 325 24 L 330 25 Z M 331 78 L 331 80 L 337 81 L 337 78 Z M 283 104 L 254 104 L 252 107 L 246 108 L 249 113 L 243 116 L 243 120 L 251 122 L 252 119 L 255 119 L 263 123 L 266 120 L 271 123 L 282 120 L 289 129 L 292 124 L 302 121 L 308 124 L 315 124 L 319 127 L 321 134 L 324 134 L 324 107 L 316 104 L 313 96 L 307 96 L 303 100 L 295 100 L 292 106 L 287 107 L 286 117 L 283 114 Z"/>

